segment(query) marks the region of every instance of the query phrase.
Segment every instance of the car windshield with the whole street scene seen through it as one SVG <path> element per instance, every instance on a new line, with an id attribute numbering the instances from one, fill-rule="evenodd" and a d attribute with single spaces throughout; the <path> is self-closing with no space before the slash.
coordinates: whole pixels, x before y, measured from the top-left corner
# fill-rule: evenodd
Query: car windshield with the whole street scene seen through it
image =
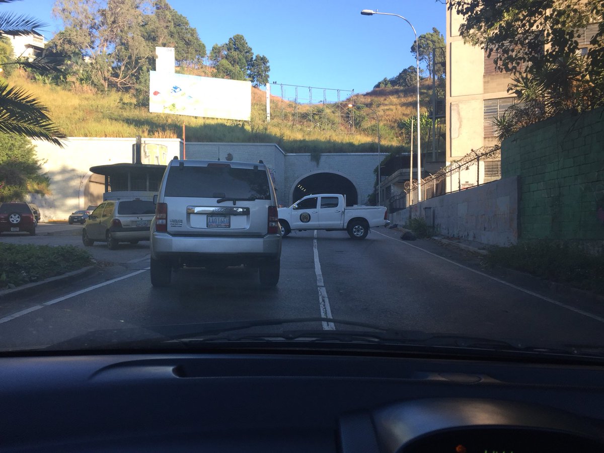
<path id="1" fill-rule="evenodd" d="M 0 350 L 604 358 L 602 4 L 529 3 L 0 3 Z"/>

